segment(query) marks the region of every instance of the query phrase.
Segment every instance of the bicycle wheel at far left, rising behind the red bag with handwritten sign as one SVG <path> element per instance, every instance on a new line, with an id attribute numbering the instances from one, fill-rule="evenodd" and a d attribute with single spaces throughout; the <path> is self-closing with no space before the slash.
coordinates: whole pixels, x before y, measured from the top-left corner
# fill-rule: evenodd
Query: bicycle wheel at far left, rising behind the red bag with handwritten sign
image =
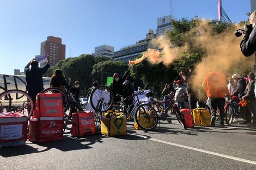
<path id="1" fill-rule="evenodd" d="M 8 90 L 0 94 L 0 105 L 2 112 L 22 112 L 31 117 L 34 110 L 32 98 L 25 91 Z"/>

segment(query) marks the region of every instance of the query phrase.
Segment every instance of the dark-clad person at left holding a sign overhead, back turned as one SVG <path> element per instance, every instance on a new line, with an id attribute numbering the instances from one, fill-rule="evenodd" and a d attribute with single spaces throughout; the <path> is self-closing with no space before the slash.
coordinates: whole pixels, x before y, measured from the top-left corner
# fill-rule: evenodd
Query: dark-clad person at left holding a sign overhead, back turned
<path id="1" fill-rule="evenodd" d="M 28 91 L 28 95 L 32 98 L 34 102 L 36 95 L 40 93 L 42 90 L 44 90 L 44 82 L 42 81 L 42 75 L 46 73 L 48 68 L 50 68 L 50 65 L 48 64 L 48 55 L 46 65 L 41 68 L 39 68 L 38 65 L 38 61 L 33 59 L 28 62 L 24 69 L 24 72 L 26 74 L 26 88 Z M 29 68 L 29 66 L 31 66 L 31 68 Z"/>

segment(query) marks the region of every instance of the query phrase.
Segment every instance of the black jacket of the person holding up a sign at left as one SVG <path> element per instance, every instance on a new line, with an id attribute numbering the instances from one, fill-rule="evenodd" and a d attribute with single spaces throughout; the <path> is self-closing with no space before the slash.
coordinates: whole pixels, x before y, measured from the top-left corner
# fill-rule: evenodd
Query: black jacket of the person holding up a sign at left
<path id="1" fill-rule="evenodd" d="M 28 66 L 25 67 L 24 72 L 26 74 L 26 87 L 28 92 L 41 92 L 42 90 L 44 90 L 42 75 L 44 75 L 49 67 L 49 64 L 46 64 L 44 67 L 41 68 L 29 69 Z"/>

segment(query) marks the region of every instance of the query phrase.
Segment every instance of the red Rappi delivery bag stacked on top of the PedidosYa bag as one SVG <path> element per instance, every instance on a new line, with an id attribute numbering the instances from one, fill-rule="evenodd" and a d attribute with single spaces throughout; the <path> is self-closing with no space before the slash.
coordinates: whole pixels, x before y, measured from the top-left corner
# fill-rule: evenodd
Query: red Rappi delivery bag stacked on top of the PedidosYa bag
<path id="1" fill-rule="evenodd" d="M 39 93 L 36 96 L 33 118 L 39 117 L 64 117 L 61 93 Z"/>

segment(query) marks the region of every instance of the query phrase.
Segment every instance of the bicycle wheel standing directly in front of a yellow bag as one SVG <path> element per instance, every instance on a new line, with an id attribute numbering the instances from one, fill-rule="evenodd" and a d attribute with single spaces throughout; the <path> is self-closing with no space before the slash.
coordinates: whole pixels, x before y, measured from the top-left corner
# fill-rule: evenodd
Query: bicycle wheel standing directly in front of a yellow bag
<path id="1" fill-rule="evenodd" d="M 135 111 L 136 123 L 143 130 L 149 131 L 156 128 L 158 115 L 153 107 L 150 104 L 142 104 Z"/>

